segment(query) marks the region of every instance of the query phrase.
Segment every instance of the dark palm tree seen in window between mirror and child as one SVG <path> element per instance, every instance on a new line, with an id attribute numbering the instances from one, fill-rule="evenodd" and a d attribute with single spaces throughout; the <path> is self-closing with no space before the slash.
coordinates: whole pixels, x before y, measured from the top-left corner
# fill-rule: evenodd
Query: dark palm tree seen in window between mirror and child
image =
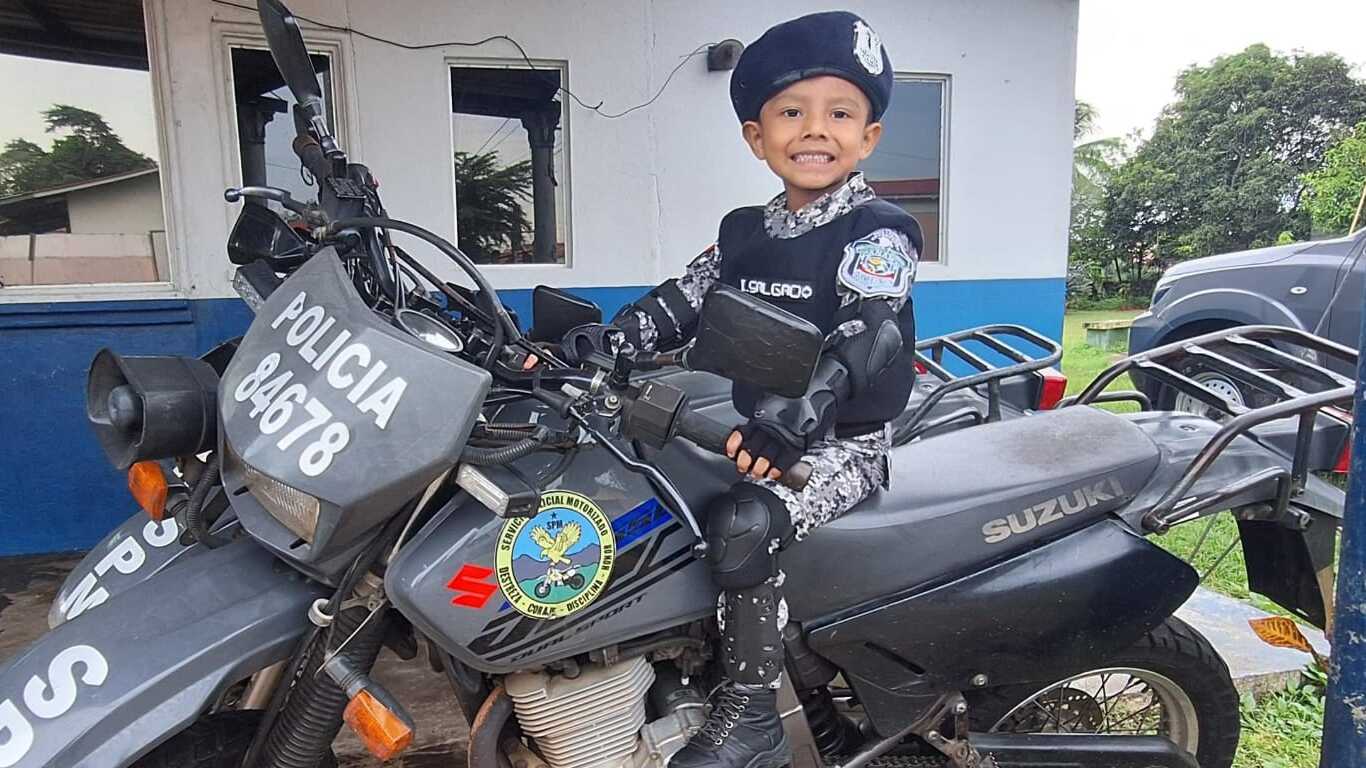
<path id="1" fill-rule="evenodd" d="M 531 161 L 499 167 L 499 153 L 455 153 L 455 228 L 460 250 L 481 262 L 523 250 L 531 197 Z"/>

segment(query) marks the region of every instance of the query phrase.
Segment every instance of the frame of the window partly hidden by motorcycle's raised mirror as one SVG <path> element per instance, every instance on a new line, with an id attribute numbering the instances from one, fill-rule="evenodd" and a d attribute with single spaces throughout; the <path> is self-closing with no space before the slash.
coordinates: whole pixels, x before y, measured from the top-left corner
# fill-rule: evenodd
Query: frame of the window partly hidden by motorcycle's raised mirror
<path id="1" fill-rule="evenodd" d="M 332 128 L 332 135 L 336 137 L 337 143 L 342 145 L 347 153 L 355 152 L 357 148 L 351 142 L 351 131 L 348 126 L 351 123 L 351 102 L 348 98 L 348 83 L 350 83 L 350 60 L 348 51 L 346 45 L 346 38 L 343 34 L 331 33 L 326 30 L 317 30 L 311 27 L 301 27 L 303 33 L 303 45 L 307 48 L 310 55 L 328 56 L 332 60 L 331 64 L 331 79 L 332 79 L 332 120 L 335 126 Z M 232 49 L 234 48 L 250 48 L 255 51 L 269 51 L 269 45 L 265 40 L 265 33 L 261 30 L 260 25 L 242 25 L 234 22 L 216 22 L 214 33 L 214 78 L 220 85 L 221 104 L 219 105 L 219 119 L 224 127 L 225 137 L 223 148 L 223 178 L 231 186 L 242 186 L 242 149 L 238 143 L 238 111 L 236 111 L 236 94 L 234 93 L 234 79 L 232 79 Z M 284 113 L 276 119 L 294 118 L 290 113 Z M 238 219 L 236 206 L 224 205 L 224 232 L 231 232 L 232 225 Z"/>

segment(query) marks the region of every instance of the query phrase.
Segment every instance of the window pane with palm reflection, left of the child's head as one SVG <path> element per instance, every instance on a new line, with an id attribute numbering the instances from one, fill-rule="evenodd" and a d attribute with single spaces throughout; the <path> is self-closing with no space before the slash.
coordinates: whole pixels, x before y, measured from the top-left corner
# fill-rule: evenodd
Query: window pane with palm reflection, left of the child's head
<path id="1" fill-rule="evenodd" d="M 568 258 L 564 66 L 451 67 L 455 230 L 477 264 Z"/>

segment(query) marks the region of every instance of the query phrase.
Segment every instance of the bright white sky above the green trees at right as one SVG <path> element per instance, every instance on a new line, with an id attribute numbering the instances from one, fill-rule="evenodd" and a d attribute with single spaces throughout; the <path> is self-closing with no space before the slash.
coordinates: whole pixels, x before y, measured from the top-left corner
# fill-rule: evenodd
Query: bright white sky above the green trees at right
<path id="1" fill-rule="evenodd" d="M 1191 64 L 1254 42 L 1333 52 L 1366 77 L 1366 3 L 1359 0 L 1082 0 L 1076 97 L 1100 111 L 1100 137 L 1152 134 L 1172 83 Z"/>

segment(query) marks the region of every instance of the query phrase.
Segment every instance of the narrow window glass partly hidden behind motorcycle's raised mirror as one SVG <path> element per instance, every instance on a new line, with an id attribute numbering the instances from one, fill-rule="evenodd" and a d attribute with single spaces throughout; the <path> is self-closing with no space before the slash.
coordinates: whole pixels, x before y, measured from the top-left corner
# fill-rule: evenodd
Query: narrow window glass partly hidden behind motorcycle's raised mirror
<path id="1" fill-rule="evenodd" d="M 270 52 L 238 45 L 229 51 L 242 183 L 290 190 L 290 195 L 298 201 L 317 202 L 317 184 L 301 169 L 299 159 L 294 154 L 292 109 L 296 101 L 285 87 Z M 313 53 L 310 59 L 322 85 L 328 126 L 335 133 L 332 56 Z M 268 205 L 287 219 L 298 216 L 277 202 Z"/>

